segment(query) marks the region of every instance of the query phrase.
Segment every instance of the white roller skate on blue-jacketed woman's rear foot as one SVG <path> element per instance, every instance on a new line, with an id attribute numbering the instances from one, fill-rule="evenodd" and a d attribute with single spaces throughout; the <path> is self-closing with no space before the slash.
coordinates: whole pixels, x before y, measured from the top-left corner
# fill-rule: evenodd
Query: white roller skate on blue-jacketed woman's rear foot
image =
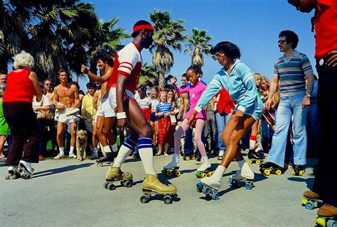
<path id="1" fill-rule="evenodd" d="M 250 170 L 247 162 L 242 165 L 241 170 L 237 170 L 235 175 L 232 175 L 228 180 L 228 183 L 232 187 L 245 187 L 245 189 L 250 190 L 253 185 L 254 172 Z"/>

